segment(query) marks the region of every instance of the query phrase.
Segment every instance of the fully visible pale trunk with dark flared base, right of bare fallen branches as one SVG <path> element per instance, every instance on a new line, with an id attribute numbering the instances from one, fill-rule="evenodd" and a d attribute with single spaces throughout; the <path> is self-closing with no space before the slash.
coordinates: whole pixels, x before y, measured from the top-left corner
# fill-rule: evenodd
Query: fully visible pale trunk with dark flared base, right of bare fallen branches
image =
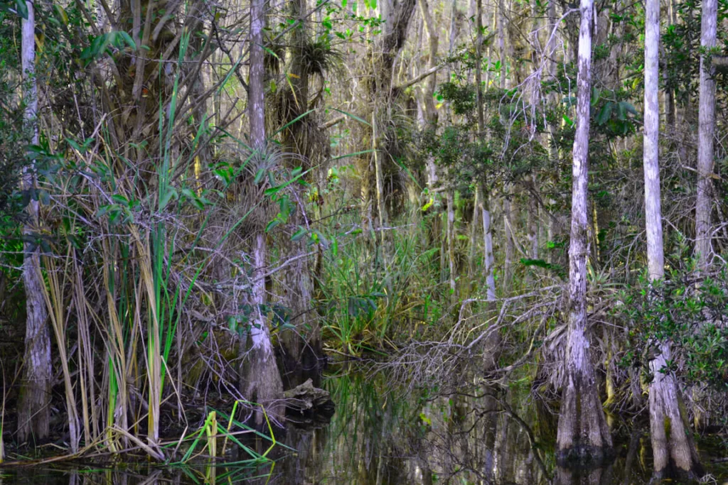
<path id="1" fill-rule="evenodd" d="M 574 138 L 569 246 L 569 333 L 566 342 L 566 388 L 556 437 L 557 458 L 603 460 L 612 452 L 612 436 L 589 356 L 587 328 L 587 164 L 591 96 L 591 26 L 593 0 L 581 1 L 577 72 L 577 131 Z"/>

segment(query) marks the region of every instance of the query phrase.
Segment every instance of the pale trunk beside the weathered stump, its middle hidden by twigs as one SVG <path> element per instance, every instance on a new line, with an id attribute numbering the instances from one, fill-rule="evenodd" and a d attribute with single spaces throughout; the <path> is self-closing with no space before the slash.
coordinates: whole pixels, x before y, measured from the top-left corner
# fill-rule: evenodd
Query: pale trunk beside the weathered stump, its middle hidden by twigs
<path id="1" fill-rule="evenodd" d="M 250 4 L 250 144 L 256 156 L 264 157 L 266 151 L 266 132 L 264 115 L 264 53 L 263 27 L 265 23 L 265 0 L 253 0 Z M 269 416 L 282 421 L 284 407 L 279 400 L 283 396 L 283 385 L 273 355 L 270 330 L 263 306 L 266 304 L 265 272 L 267 266 L 266 233 L 258 229 L 253 241 L 253 289 L 251 300 L 253 313 L 250 318 L 250 347 L 242 356 L 240 373 L 242 396 L 265 406 Z M 245 342 L 240 342 L 245 349 Z M 263 414 L 256 412 L 256 424 L 261 425 Z"/>

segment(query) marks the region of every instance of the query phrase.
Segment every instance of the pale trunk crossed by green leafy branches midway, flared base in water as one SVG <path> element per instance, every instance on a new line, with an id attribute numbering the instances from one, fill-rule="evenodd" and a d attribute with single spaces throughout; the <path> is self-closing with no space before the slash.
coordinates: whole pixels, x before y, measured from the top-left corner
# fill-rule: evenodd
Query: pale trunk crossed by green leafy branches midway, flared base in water
<path id="1" fill-rule="evenodd" d="M 660 209 L 660 0 L 647 0 L 644 49 L 644 201 L 649 281 L 665 276 Z M 670 360 L 670 342 L 653 342 L 657 356 L 649 363 L 649 428 L 652 435 L 654 474 L 692 477 L 700 474 L 695 445 L 687 426 L 675 375 L 664 372 Z"/>

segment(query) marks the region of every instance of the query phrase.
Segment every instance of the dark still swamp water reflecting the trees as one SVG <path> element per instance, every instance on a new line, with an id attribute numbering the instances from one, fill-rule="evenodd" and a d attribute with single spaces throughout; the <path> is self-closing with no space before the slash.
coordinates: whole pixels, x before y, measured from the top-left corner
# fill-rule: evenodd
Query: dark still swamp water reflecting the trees
<path id="1" fill-rule="evenodd" d="M 382 374 L 332 367 L 322 384 L 336 403 L 331 420 L 289 420 L 285 434 L 277 436 L 285 446 L 275 446 L 268 455 L 272 461 L 256 468 L 232 465 L 246 458 L 237 449 L 227 455 L 227 464 L 216 465 L 164 467 L 141 460 L 0 468 L 0 485 L 649 483 L 652 451 L 644 432 L 615 428 L 617 457 L 606 468 L 558 468 L 553 455 L 558 417 L 529 398 L 525 380 L 497 393 L 418 395 L 403 393 Z M 258 439 L 248 446 L 262 453 L 270 442 Z M 705 483 L 728 484 L 728 464 L 716 463 L 719 457 L 705 446 L 700 452 L 711 473 Z"/>

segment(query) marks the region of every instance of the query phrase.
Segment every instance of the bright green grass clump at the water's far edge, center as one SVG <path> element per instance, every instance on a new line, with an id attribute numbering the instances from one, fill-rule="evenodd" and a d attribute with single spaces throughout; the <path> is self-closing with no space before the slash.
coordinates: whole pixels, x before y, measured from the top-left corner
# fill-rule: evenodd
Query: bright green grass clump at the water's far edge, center
<path id="1" fill-rule="evenodd" d="M 320 277 L 323 326 L 350 353 L 427 332 L 447 305 L 439 248 L 426 246 L 427 221 L 397 223 L 405 230 L 392 231 L 386 260 L 381 246 L 372 247 L 358 231 L 331 229 Z"/>

